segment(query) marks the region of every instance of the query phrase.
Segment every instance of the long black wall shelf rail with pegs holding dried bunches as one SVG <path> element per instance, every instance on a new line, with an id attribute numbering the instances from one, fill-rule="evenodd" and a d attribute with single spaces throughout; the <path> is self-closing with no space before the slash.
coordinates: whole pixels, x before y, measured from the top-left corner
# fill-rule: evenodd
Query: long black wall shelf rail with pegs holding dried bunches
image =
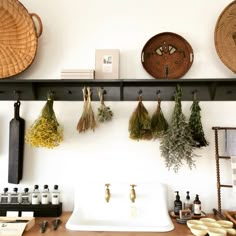
<path id="1" fill-rule="evenodd" d="M 175 88 L 182 88 L 182 100 L 191 101 L 197 92 L 200 101 L 236 101 L 236 79 L 126 79 L 126 80 L 17 80 L 0 81 L 0 100 L 40 101 L 54 93 L 57 101 L 82 101 L 84 86 L 90 86 L 93 100 L 98 101 L 97 88 L 106 90 L 106 101 L 137 101 L 142 91 L 144 101 L 173 101 Z"/>

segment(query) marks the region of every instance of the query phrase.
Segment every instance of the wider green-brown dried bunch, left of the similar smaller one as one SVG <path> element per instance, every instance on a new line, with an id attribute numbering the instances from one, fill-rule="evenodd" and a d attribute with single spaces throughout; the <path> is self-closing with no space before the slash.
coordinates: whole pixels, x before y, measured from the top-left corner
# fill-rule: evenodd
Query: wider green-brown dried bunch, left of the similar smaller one
<path id="1" fill-rule="evenodd" d="M 151 118 L 139 95 L 138 106 L 129 119 L 129 137 L 134 140 L 152 139 Z"/>

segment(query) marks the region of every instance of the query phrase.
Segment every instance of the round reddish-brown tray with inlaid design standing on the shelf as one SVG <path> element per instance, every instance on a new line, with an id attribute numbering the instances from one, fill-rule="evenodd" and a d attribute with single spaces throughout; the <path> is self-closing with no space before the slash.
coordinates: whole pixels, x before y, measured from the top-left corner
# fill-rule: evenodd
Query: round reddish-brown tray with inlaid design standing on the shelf
<path id="1" fill-rule="evenodd" d="M 164 32 L 145 44 L 141 54 L 144 69 L 156 79 L 178 79 L 193 63 L 193 49 L 180 35 Z"/>

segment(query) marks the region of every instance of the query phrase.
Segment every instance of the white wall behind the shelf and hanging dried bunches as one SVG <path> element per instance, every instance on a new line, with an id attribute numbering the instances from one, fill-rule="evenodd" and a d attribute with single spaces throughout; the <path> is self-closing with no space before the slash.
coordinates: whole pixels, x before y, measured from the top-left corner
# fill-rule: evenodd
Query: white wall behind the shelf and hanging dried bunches
<path id="1" fill-rule="evenodd" d="M 161 32 L 182 35 L 193 47 L 194 63 L 185 78 L 233 78 L 234 74 L 218 58 L 214 48 L 216 20 L 230 0 L 40 0 L 21 1 L 40 15 L 44 32 L 39 39 L 35 61 L 17 76 L 21 79 L 59 79 L 63 68 L 94 68 L 96 48 L 120 49 L 122 79 L 151 78 L 142 68 L 140 54 L 144 44 Z M 50 5 L 50 6 L 49 6 Z M 8 125 L 13 103 L 1 102 L 0 109 L 0 188 L 7 183 Z M 29 127 L 38 117 L 44 102 L 22 101 L 21 116 Z M 93 103 L 94 111 L 98 103 Z M 212 126 L 235 126 L 235 102 L 201 102 L 202 122 L 209 147 L 197 150 L 196 169 L 183 167 L 178 174 L 165 168 L 158 141 L 132 141 L 128 120 L 136 102 L 107 102 L 114 120 L 96 131 L 78 134 L 76 125 L 82 102 L 55 102 L 57 118 L 64 126 L 64 142 L 53 150 L 25 145 L 24 176 L 20 189 L 34 184 L 59 184 L 64 210 L 73 209 L 73 190 L 79 182 L 139 183 L 160 181 L 168 185 L 168 205 L 172 208 L 174 191 L 182 200 L 186 191 L 191 199 L 200 195 L 203 210 L 217 207 L 214 133 Z M 152 113 L 155 102 L 145 102 Z M 183 102 L 189 117 L 191 102 Z M 170 121 L 173 102 L 163 102 Z M 223 142 L 221 146 L 223 149 Z M 230 163 L 222 169 L 222 178 L 231 184 Z M 226 184 L 227 184 L 226 183 Z M 138 191 L 138 190 L 137 190 Z M 234 208 L 232 190 L 222 190 L 224 208 Z M 94 193 L 96 197 L 96 193 Z M 128 196 L 128 193 L 127 193 Z M 235 198 L 234 198 L 235 199 Z"/>

